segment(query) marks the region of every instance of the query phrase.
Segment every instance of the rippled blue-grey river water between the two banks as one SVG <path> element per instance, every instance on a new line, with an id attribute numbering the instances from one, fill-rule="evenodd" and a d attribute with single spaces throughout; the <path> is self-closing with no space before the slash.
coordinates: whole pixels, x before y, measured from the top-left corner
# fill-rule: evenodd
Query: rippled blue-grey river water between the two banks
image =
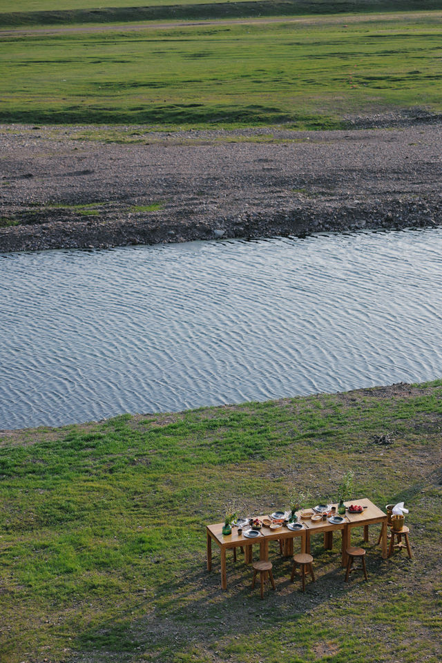
<path id="1" fill-rule="evenodd" d="M 442 229 L 0 254 L 0 428 L 442 375 Z"/>

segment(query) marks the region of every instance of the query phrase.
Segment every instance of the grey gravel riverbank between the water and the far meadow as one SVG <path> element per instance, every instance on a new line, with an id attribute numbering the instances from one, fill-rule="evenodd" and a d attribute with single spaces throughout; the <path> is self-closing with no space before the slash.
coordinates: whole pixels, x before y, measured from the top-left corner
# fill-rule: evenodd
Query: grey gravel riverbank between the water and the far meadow
<path id="1" fill-rule="evenodd" d="M 0 126 L 0 251 L 442 223 L 442 130 L 423 111 L 344 131 Z"/>

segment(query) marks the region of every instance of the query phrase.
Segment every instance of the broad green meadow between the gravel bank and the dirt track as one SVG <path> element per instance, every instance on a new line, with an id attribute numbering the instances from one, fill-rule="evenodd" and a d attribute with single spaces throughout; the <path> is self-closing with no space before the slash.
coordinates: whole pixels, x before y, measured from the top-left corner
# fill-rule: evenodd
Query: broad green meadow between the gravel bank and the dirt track
<path id="1" fill-rule="evenodd" d="M 3 36 L 0 121 L 338 128 L 442 108 L 442 13 Z"/>

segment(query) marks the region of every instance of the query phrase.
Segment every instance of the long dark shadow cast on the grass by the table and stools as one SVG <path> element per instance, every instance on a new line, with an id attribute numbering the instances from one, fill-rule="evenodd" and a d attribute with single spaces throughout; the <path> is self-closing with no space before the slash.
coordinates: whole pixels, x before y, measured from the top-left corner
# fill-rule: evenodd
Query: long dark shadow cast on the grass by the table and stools
<path id="1" fill-rule="evenodd" d="M 378 582 L 389 577 L 389 570 L 380 548 L 374 544 L 374 535 L 377 540 L 377 533 L 373 532 L 372 543 L 366 544 L 367 570 L 369 581 Z M 264 625 L 272 631 L 288 625 L 298 631 L 311 611 L 328 606 L 331 599 L 333 602 L 345 599 L 365 584 L 362 571 L 354 573 L 345 583 L 340 549 L 324 550 L 322 537 L 315 539 L 312 539 L 312 555 L 316 582 L 307 579 L 305 593 L 300 590 L 299 575 L 291 583 L 292 560 L 280 557 L 277 541 L 269 550 L 276 591 L 267 585 L 264 601 L 260 599 L 259 583 L 251 590 L 251 566 L 244 564 L 239 549 L 236 563 L 232 552 L 227 554 L 228 588 L 223 591 L 219 556 L 215 554 L 211 573 L 205 570 L 201 559 L 195 560 L 198 568 L 191 573 L 186 571 L 160 582 L 156 600 L 143 599 L 117 619 L 109 619 L 82 633 L 75 643 L 77 651 L 94 651 L 97 660 L 101 660 L 100 652 L 106 654 L 112 650 L 119 653 L 120 660 L 135 661 L 141 650 L 150 653 L 148 660 L 160 662 L 168 657 L 175 660 L 177 652 L 188 651 L 195 643 L 217 648 L 220 633 L 225 642 L 236 638 L 238 633 L 259 631 Z M 336 541 L 340 544 L 340 537 Z M 255 549 L 254 559 L 257 555 Z M 140 612 L 144 614 L 140 616 Z M 137 616 L 133 617 L 132 613 Z"/>

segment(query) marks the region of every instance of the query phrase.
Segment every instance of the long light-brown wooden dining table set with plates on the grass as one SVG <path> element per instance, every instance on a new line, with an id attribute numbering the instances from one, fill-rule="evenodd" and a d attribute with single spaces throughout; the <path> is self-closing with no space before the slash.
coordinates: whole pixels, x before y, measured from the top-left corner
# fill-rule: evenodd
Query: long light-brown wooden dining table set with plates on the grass
<path id="1" fill-rule="evenodd" d="M 224 523 L 215 523 L 206 526 L 206 545 L 207 545 L 207 570 L 212 569 L 212 542 L 220 548 L 221 557 L 221 587 L 227 589 L 227 550 L 243 548 L 244 561 L 251 564 L 253 558 L 253 545 L 259 544 L 260 560 L 269 559 L 269 541 L 279 540 L 282 542 L 282 555 L 291 557 L 294 550 L 294 539 L 300 539 L 301 553 L 309 553 L 311 545 L 311 536 L 322 534 L 324 537 L 324 547 L 327 549 L 333 546 L 334 532 L 341 534 L 341 564 L 347 566 L 347 548 L 351 545 L 352 529 L 363 527 L 363 537 L 368 541 L 368 526 L 374 523 L 381 523 L 381 553 L 383 559 L 387 559 L 387 514 L 381 511 L 372 501 L 367 498 L 354 499 L 346 503 L 346 506 L 355 503 L 365 507 L 360 514 L 350 514 L 345 512 L 342 523 L 330 523 L 328 520 L 314 522 L 311 520 L 300 519 L 298 512 L 298 522 L 302 523 L 302 529 L 289 530 L 282 526 L 278 530 L 262 527 L 259 534 L 254 539 L 244 536 L 244 531 L 238 532 L 236 527 L 232 528 L 229 535 L 222 534 Z M 260 521 L 266 516 L 258 516 Z M 247 530 L 247 527 L 246 527 Z"/>

